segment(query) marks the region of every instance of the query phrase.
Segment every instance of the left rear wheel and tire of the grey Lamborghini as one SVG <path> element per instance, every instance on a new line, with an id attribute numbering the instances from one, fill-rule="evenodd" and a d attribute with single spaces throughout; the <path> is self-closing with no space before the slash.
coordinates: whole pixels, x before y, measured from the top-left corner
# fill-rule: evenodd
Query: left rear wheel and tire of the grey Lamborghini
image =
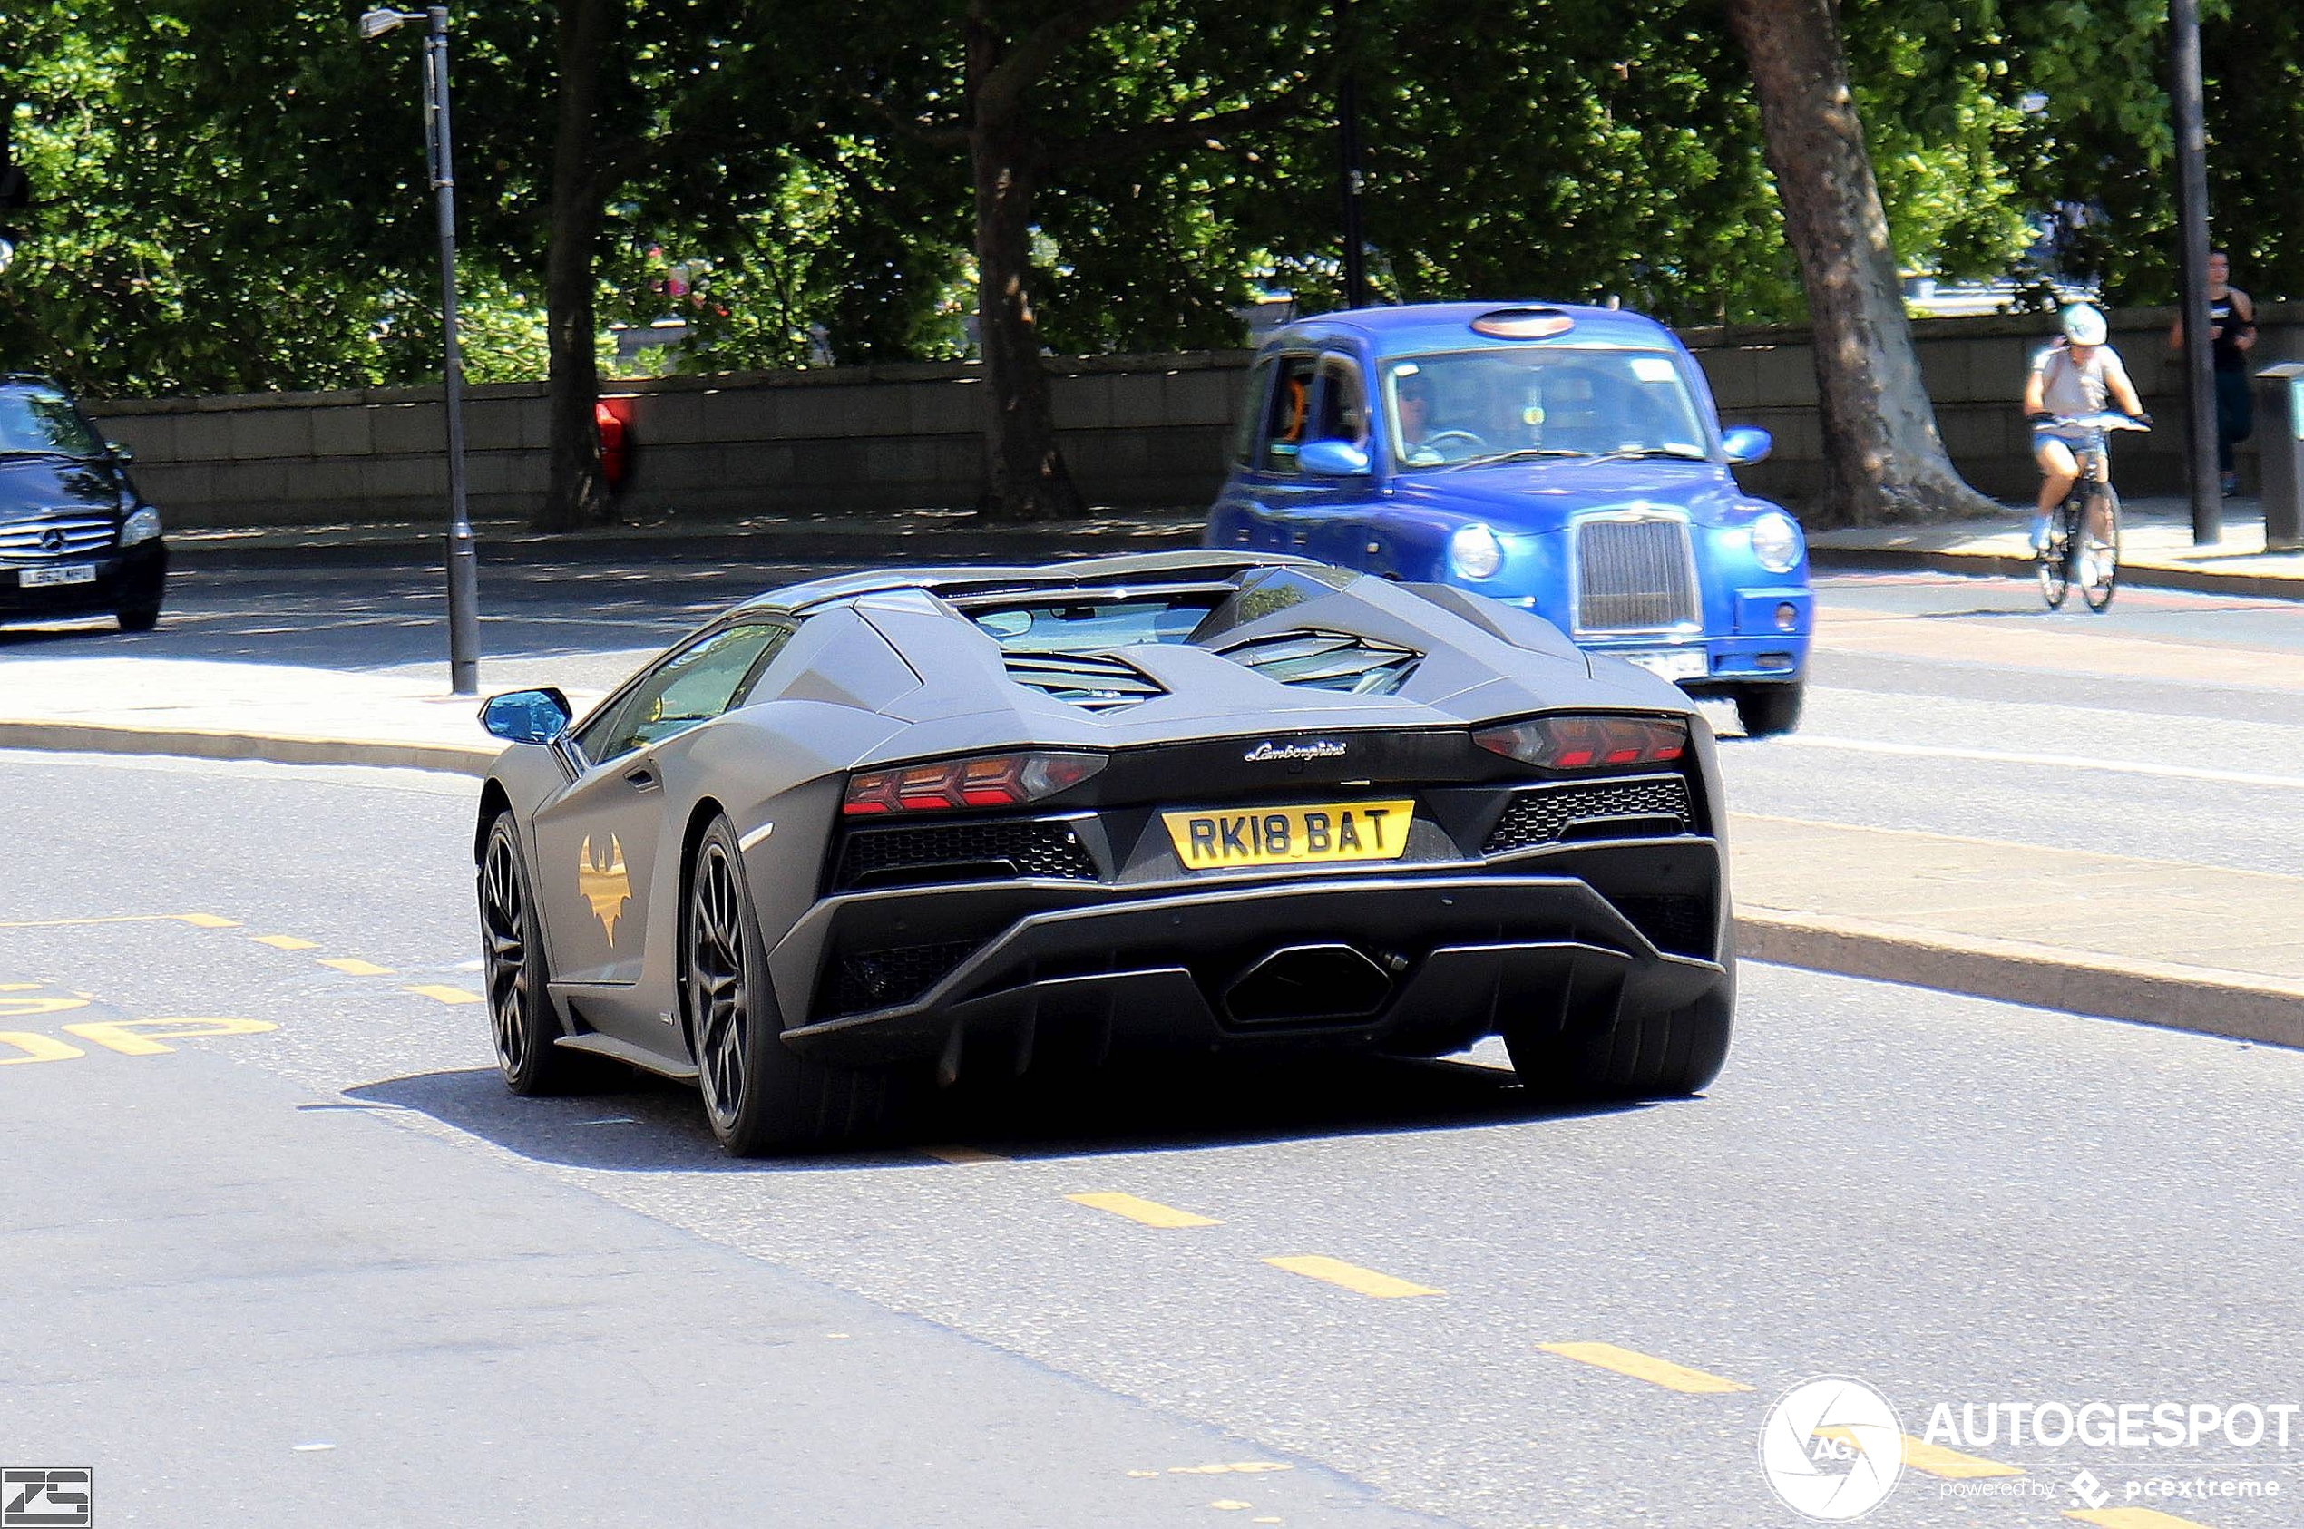
<path id="1" fill-rule="evenodd" d="M 680 1009 L 705 1121 L 728 1156 L 827 1147 L 880 1124 L 885 1073 L 825 1066 L 783 1043 L 767 940 L 726 817 L 705 829 L 689 859 Z"/>

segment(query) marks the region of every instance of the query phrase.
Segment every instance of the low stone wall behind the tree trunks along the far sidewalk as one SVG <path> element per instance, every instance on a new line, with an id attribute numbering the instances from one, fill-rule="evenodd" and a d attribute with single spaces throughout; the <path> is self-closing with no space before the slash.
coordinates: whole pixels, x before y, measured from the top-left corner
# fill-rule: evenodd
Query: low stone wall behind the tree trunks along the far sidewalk
<path id="1" fill-rule="evenodd" d="M 2304 359 L 2304 309 L 2267 309 L 2258 364 Z M 2113 343 L 2147 408 L 2152 438 L 2115 447 L 2136 493 L 2182 486 L 2182 378 L 2166 311 L 2122 313 Z M 1915 325 L 1922 371 L 1954 461 L 1972 484 L 2030 497 L 2016 412 L 2041 318 Z M 1799 502 L 1818 472 L 1816 373 L 1804 329 L 1689 332 L 1728 424 L 1776 435 L 1742 470 L 1756 493 Z M 1223 479 L 1246 385 L 1242 350 L 1051 359 L 1064 456 L 1097 504 L 1198 507 Z M 982 465 L 982 373 L 972 364 L 852 366 L 620 382 L 629 412 L 631 514 L 839 514 L 970 504 Z M 438 389 L 253 394 L 92 403 L 136 451 L 145 495 L 175 525 L 433 520 L 447 497 Z M 544 493 L 541 385 L 475 387 L 465 401 L 477 518 L 525 516 Z M 2244 449 L 2242 477 L 2253 470 Z"/>

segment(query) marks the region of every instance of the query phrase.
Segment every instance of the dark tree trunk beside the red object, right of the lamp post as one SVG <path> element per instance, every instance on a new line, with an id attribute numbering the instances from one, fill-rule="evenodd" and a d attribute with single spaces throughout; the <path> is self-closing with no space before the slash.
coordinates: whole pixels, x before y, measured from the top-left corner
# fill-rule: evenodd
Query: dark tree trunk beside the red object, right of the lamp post
<path id="1" fill-rule="evenodd" d="M 537 530 L 567 532 L 611 518 L 599 467 L 599 334 L 592 260 L 599 246 L 599 71 L 611 0 L 560 5 L 560 129 L 553 136 L 553 223 L 544 256 L 544 329 L 551 352 L 551 484 Z"/>

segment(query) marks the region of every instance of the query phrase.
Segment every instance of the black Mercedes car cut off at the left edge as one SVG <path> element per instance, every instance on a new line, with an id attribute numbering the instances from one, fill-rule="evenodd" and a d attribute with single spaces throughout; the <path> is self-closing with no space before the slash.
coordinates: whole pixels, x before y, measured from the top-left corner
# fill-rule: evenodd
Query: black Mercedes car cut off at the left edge
<path id="1" fill-rule="evenodd" d="M 166 578 L 127 451 L 48 378 L 0 375 L 0 622 L 115 615 L 152 631 Z"/>

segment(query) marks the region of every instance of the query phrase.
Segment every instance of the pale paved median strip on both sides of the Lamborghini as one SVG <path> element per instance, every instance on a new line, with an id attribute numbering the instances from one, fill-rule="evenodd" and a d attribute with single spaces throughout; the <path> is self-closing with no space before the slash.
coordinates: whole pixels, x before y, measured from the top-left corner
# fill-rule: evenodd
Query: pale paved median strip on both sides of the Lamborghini
<path id="1" fill-rule="evenodd" d="M 168 659 L 7 677 L 0 748 L 468 776 L 498 753 L 438 679 Z M 2304 1045 L 2304 949 L 2235 940 L 2304 926 L 2304 877 L 1753 815 L 1730 845 L 1744 956 Z"/>

